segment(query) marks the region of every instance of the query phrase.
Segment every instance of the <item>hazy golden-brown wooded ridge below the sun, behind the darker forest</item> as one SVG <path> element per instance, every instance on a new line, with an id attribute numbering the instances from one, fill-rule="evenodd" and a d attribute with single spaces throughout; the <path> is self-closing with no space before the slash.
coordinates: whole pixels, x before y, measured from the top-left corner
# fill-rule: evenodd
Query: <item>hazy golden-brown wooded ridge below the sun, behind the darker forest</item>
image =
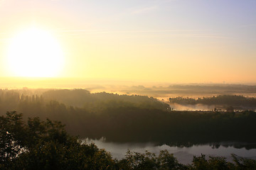
<path id="1" fill-rule="evenodd" d="M 86 111 L 96 111 L 108 107 L 134 106 L 137 108 L 170 109 L 169 105 L 156 98 L 138 95 L 108 94 L 105 92 L 91 94 L 85 89 L 48 90 L 39 94 L 33 91 L 2 90 L 0 89 L 0 111 L 3 113 L 15 109 L 16 111 L 29 110 L 26 105 L 42 107 L 52 103 L 62 103 L 66 107 L 85 108 Z M 32 108 L 34 108 L 32 107 Z"/>

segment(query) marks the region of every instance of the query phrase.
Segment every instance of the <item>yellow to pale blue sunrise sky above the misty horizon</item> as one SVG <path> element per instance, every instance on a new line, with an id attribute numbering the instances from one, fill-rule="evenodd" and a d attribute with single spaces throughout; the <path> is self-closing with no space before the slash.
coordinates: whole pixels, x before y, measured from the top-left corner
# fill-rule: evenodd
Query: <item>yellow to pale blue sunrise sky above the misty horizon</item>
<path id="1" fill-rule="evenodd" d="M 51 72 L 54 56 L 26 61 L 29 52 L 10 45 L 33 27 L 62 51 L 53 78 L 256 84 L 255 8 L 255 0 L 0 0 L 0 77 Z M 30 49 L 41 54 L 46 44 Z M 10 47 L 18 65 L 6 62 Z"/>

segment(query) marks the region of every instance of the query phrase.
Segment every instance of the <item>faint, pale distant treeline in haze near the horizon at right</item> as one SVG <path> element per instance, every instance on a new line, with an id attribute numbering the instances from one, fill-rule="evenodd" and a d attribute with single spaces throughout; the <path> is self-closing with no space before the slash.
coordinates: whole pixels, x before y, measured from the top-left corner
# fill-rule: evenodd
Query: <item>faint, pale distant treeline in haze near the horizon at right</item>
<path id="1" fill-rule="evenodd" d="M 110 87 L 108 89 L 111 90 Z M 119 87 L 119 91 L 127 94 L 141 94 L 150 96 L 166 96 L 166 94 L 172 94 L 172 96 L 203 96 L 216 94 L 250 95 L 256 94 L 256 86 L 242 84 L 176 84 L 170 86 L 122 86 Z"/>

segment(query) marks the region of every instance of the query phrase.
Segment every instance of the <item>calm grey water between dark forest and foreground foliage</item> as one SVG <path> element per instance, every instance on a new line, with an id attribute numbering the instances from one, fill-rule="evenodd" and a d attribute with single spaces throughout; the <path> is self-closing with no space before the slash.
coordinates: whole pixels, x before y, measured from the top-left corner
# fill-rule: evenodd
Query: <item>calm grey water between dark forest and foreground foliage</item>
<path id="1" fill-rule="evenodd" d="M 178 162 L 182 164 L 191 164 L 193 156 L 200 156 L 206 154 L 206 156 L 219 156 L 226 157 L 228 161 L 232 161 L 231 154 L 236 154 L 239 157 L 246 157 L 250 159 L 256 159 L 256 149 L 245 149 L 231 147 L 230 143 L 222 143 L 220 145 L 193 145 L 192 147 L 170 147 L 168 145 L 156 146 L 153 143 L 116 143 L 106 142 L 104 139 L 101 140 L 84 140 L 87 143 L 95 143 L 100 149 L 106 149 L 107 152 L 112 154 L 113 158 L 122 159 L 124 158 L 127 149 L 132 152 L 144 153 L 146 150 L 155 154 L 163 149 L 168 150 L 174 154 L 174 157 L 178 159 Z M 238 145 L 238 144 L 235 144 Z"/>

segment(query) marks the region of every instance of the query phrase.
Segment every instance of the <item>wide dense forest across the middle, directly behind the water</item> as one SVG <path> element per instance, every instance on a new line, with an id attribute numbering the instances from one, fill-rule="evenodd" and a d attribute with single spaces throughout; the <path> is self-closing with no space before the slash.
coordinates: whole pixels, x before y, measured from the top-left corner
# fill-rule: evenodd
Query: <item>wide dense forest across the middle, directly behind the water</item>
<path id="1" fill-rule="evenodd" d="M 17 111 L 23 113 L 24 119 L 59 120 L 72 135 L 106 137 L 114 142 L 151 141 L 189 147 L 208 142 L 256 140 L 254 111 L 171 111 L 168 104 L 147 96 L 91 94 L 83 89 L 49 90 L 38 96 L 1 90 L 0 111 L 1 115 Z"/>

